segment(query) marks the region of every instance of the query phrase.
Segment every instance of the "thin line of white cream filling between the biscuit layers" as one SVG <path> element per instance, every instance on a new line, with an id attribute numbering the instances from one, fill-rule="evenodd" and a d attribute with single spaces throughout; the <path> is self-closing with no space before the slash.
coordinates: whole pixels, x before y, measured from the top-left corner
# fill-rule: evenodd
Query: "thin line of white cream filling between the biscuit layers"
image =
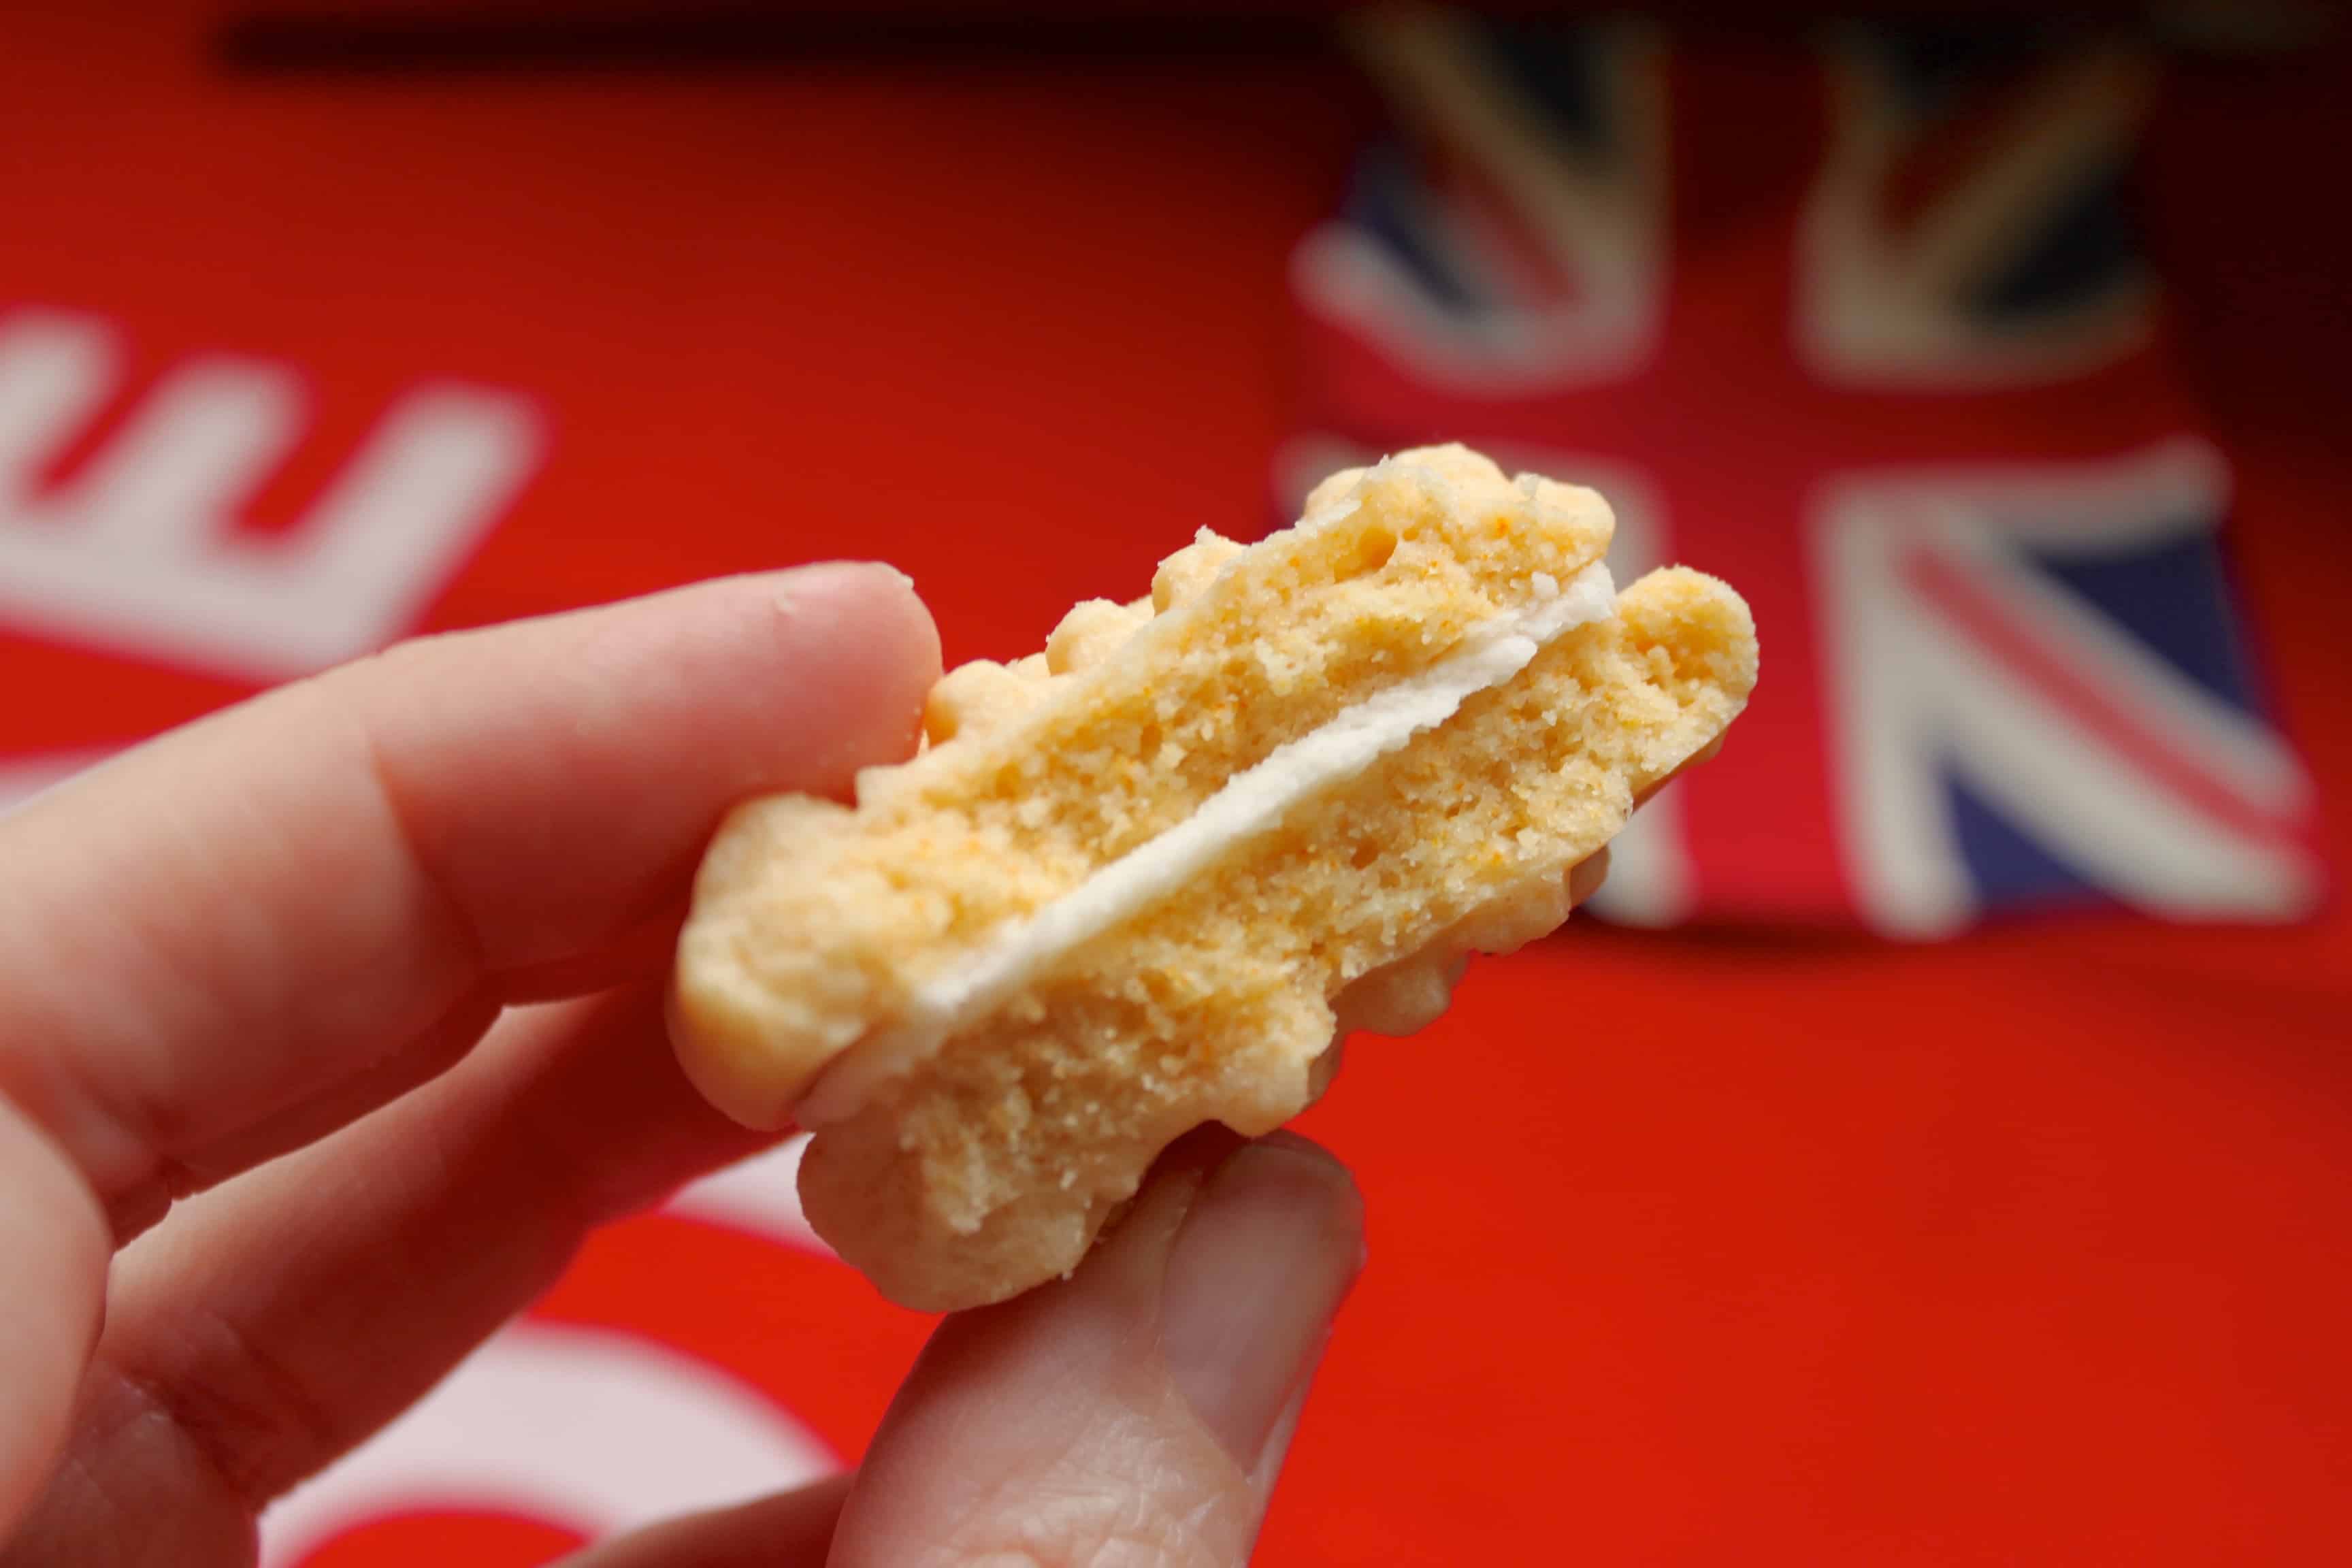
<path id="1" fill-rule="evenodd" d="M 1536 604 L 1496 616 L 1421 675 L 1374 691 L 1319 729 L 1242 769 L 1183 823 L 1098 867 L 1028 919 L 1002 926 L 962 961 L 915 985 L 901 1018 L 837 1056 L 797 1107 L 802 1126 L 856 1112 L 873 1088 L 924 1060 L 955 1032 L 1018 994 L 1063 954 L 1160 903 L 1275 827 L 1298 802 L 1345 783 L 1414 736 L 1444 724 L 1479 691 L 1524 670 L 1543 644 L 1616 614 L 1599 562 L 1566 585 L 1536 574 Z"/>

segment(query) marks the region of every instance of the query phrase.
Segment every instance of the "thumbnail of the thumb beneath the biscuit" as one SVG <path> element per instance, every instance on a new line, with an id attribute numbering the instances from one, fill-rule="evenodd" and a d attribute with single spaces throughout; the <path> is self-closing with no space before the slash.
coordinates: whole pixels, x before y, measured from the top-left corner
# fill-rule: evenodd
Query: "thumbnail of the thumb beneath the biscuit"
<path id="1" fill-rule="evenodd" d="M 1303 1138 L 1235 1150 L 1192 1199 L 1162 1284 L 1160 1352 L 1244 1472 L 1322 1356 L 1362 1260 L 1355 1182 Z"/>

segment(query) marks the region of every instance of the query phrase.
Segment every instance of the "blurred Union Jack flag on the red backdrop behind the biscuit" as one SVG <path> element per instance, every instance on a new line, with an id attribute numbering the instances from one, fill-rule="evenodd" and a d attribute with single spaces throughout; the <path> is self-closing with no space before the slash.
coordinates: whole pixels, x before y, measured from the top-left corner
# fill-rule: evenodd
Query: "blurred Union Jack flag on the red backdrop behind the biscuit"
<path id="1" fill-rule="evenodd" d="M 1294 256 L 1284 489 L 1479 442 L 1611 494 L 1621 571 L 1757 609 L 1757 705 L 1628 835 L 1613 914 L 2312 907 L 2227 468 L 2122 205 L 2145 54 L 1867 28 L 1792 73 L 1430 9 L 1355 42 L 1395 129 Z"/>

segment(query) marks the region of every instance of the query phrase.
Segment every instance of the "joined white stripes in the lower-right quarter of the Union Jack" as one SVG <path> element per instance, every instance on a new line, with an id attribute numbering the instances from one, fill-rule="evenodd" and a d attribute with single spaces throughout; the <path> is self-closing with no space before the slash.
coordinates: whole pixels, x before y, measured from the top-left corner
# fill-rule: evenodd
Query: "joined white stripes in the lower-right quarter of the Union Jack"
<path id="1" fill-rule="evenodd" d="M 2039 837 L 2082 877 L 2173 917 L 2303 912 L 2317 867 L 2279 835 L 2201 813 L 2103 736 L 2074 722 L 2027 677 L 1966 644 L 1905 576 L 1938 552 L 1987 595 L 2020 604 L 2034 635 L 2241 792 L 2291 818 L 2307 797 L 2300 764 L 2267 731 L 2086 604 L 2004 557 L 2004 543 L 2154 548 L 2211 529 L 2223 477 L 2197 442 L 2074 470 L 1929 470 L 1849 480 L 1816 524 L 1820 628 L 1830 672 L 1839 844 L 1865 914 L 1891 931 L 1936 936 L 1978 907 L 1957 839 L 1947 771 Z"/>

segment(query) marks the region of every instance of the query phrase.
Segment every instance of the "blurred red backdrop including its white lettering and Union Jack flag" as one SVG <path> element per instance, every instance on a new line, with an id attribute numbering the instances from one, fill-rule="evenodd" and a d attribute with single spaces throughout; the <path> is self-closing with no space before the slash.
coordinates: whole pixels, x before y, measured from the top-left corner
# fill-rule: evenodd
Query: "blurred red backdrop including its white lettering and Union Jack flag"
<path id="1" fill-rule="evenodd" d="M 1014 656 L 1470 440 L 1731 578 L 1764 686 L 1604 922 L 1310 1114 L 1374 1262 L 1265 1561 L 2343 1561 L 2352 56 L 1682 16 L 12 7 L 0 809 L 823 555 Z M 790 1159 L 600 1234 L 273 1561 L 854 1462 L 927 1324 Z"/>

